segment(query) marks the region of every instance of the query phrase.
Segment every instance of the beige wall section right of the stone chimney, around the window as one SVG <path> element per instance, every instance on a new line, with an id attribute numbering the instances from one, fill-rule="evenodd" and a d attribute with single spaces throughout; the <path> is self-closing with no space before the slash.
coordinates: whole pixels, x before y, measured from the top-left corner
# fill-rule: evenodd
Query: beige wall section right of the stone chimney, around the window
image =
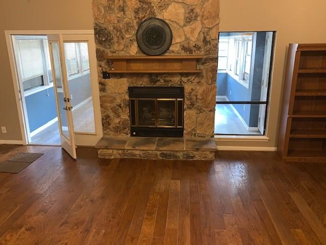
<path id="1" fill-rule="evenodd" d="M 326 42 L 326 1 L 221 0 L 220 32 L 277 31 L 271 85 L 268 142 L 219 142 L 219 145 L 265 146 L 277 144 L 283 77 L 289 43 Z"/>

